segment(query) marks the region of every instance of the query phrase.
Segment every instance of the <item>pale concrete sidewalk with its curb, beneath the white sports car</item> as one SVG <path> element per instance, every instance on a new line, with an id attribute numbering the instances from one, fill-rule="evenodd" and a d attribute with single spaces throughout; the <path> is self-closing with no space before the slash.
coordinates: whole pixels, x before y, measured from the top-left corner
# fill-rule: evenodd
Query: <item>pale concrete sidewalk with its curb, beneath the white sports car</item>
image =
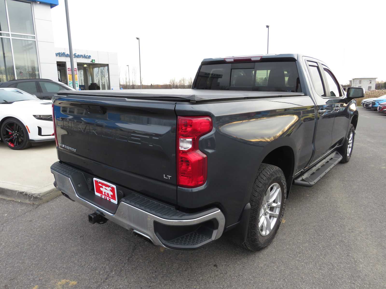
<path id="1" fill-rule="evenodd" d="M 0 143 L 0 198 L 43 203 L 60 195 L 50 166 L 58 160 L 55 142 L 15 151 Z"/>

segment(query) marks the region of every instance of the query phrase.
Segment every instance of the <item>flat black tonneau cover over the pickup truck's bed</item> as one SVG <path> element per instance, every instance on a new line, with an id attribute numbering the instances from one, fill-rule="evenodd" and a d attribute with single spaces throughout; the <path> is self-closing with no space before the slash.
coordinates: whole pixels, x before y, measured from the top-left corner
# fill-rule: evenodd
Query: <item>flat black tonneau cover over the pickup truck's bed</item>
<path id="1" fill-rule="evenodd" d="M 143 98 L 173 101 L 212 101 L 219 99 L 245 99 L 262 97 L 303 96 L 303 92 L 275 92 L 275 91 L 228 91 L 209 89 L 121 89 L 110 90 L 85 90 L 85 91 L 59 91 L 59 96 L 103 96 L 121 98 Z"/>

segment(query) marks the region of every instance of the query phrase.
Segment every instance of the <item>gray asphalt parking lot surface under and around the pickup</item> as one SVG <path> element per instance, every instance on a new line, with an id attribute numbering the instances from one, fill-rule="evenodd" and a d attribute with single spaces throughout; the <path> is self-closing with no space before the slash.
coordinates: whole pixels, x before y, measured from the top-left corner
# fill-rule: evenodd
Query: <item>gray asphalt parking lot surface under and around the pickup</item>
<path id="1" fill-rule="evenodd" d="M 385 288 L 386 115 L 358 109 L 350 162 L 312 188 L 293 187 L 276 238 L 260 252 L 226 238 L 163 250 L 112 222 L 91 225 L 90 211 L 62 196 L 0 200 L 0 287 Z"/>

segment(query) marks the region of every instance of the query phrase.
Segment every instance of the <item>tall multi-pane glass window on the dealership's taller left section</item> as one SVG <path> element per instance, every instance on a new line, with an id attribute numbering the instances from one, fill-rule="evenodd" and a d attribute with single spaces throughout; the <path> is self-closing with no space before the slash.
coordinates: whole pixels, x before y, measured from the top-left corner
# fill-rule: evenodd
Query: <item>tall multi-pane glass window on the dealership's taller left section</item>
<path id="1" fill-rule="evenodd" d="M 0 0 L 0 42 L 0 81 L 39 78 L 30 2 Z"/>

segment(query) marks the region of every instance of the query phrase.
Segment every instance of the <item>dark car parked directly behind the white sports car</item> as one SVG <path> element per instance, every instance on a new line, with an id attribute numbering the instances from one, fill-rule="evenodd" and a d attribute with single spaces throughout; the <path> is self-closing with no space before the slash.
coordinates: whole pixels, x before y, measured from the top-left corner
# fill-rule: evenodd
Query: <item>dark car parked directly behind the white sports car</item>
<path id="1" fill-rule="evenodd" d="M 36 96 L 39 99 L 51 99 L 60 90 L 75 90 L 68 85 L 51 79 L 17 79 L 0 82 L 0 87 L 14 87 Z"/>

